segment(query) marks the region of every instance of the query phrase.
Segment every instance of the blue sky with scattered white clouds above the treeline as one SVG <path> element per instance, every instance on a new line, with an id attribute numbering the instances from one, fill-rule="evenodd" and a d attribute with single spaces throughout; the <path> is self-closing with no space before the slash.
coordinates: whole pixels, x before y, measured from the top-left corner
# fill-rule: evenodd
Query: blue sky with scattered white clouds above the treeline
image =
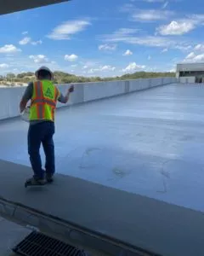
<path id="1" fill-rule="evenodd" d="M 47 66 L 82 76 L 204 62 L 202 0 L 71 0 L 0 16 L 0 74 Z"/>

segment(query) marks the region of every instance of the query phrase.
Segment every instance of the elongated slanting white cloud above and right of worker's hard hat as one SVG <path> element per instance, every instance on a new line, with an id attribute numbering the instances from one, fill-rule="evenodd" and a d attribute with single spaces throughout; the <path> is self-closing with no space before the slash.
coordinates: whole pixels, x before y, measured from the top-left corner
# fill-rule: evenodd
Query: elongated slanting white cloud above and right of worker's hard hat
<path id="1" fill-rule="evenodd" d="M 68 40 L 71 39 L 71 35 L 82 32 L 90 25 L 91 23 L 88 20 L 66 21 L 56 26 L 47 37 L 54 40 Z"/>

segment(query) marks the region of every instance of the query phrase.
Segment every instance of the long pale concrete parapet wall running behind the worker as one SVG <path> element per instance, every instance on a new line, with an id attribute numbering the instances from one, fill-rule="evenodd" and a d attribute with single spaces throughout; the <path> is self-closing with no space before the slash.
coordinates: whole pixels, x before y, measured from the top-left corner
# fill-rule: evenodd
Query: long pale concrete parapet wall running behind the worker
<path id="1" fill-rule="evenodd" d="M 163 84 L 177 83 L 177 80 L 176 78 L 156 78 L 75 84 L 75 92 L 71 95 L 70 101 L 67 104 L 58 102 L 57 108 L 146 90 Z M 58 84 L 57 86 L 65 94 L 70 84 Z M 0 119 L 20 115 L 19 102 L 25 90 L 26 87 L 0 88 Z"/>

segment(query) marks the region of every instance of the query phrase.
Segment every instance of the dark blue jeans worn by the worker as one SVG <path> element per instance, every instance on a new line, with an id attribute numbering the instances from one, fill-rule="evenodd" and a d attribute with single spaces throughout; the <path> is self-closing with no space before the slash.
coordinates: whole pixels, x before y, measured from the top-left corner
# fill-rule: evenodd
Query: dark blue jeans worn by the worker
<path id="1" fill-rule="evenodd" d="M 53 122 L 45 121 L 29 126 L 27 136 L 28 154 L 30 155 L 31 167 L 34 172 L 34 177 L 44 177 L 40 156 L 41 143 L 46 157 L 45 172 L 51 175 L 55 172 L 53 136 Z"/>

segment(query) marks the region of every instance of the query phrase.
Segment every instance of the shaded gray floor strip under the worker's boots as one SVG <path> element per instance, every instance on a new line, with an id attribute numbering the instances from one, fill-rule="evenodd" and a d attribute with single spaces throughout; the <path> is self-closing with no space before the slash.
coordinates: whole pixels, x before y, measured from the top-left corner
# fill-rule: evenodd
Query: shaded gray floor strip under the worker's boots
<path id="1" fill-rule="evenodd" d="M 202 212 L 67 175 L 58 174 L 53 184 L 25 189 L 23 183 L 30 168 L 0 161 L 0 170 L 3 170 L 0 197 L 33 212 L 42 212 L 42 228 L 48 226 L 46 216 L 52 216 L 88 230 L 89 234 L 97 234 L 101 240 L 108 237 L 110 241 L 162 256 L 204 255 Z M 17 209 L 15 216 L 25 221 L 31 218 L 37 223 L 33 213 Z M 84 236 L 69 229 L 65 236 L 84 241 Z M 88 238 L 87 241 L 91 243 Z"/>

